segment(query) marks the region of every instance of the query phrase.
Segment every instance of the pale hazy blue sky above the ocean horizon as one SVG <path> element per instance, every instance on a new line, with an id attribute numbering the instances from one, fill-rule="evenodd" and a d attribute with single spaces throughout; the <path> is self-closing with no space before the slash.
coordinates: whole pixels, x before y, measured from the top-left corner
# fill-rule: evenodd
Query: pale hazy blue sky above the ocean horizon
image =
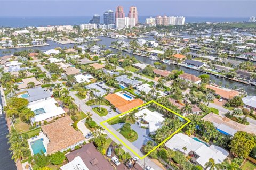
<path id="1" fill-rule="evenodd" d="M 106 10 L 124 6 L 125 14 L 129 6 L 137 6 L 141 16 L 175 15 L 201 17 L 249 17 L 256 15 L 256 1 L 217 0 L 55 0 L 55 1 L 3 1 L 0 0 L 0 16 L 92 16 L 103 15 Z"/>

